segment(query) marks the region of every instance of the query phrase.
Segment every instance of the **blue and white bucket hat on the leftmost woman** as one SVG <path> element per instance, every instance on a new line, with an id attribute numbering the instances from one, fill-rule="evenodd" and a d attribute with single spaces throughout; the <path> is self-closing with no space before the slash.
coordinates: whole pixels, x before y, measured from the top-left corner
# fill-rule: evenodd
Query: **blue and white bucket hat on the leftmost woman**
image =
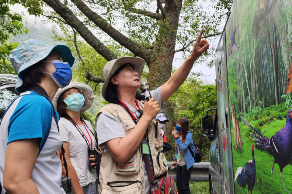
<path id="1" fill-rule="evenodd" d="M 70 67 L 72 67 L 75 58 L 69 47 L 66 45 L 50 46 L 41 40 L 29 39 L 10 52 L 9 60 L 18 73 L 18 80 L 15 88 L 16 92 L 20 93 L 18 89 L 23 85 L 21 72 L 46 58 L 52 50 L 57 51 L 64 62 L 68 62 Z"/>

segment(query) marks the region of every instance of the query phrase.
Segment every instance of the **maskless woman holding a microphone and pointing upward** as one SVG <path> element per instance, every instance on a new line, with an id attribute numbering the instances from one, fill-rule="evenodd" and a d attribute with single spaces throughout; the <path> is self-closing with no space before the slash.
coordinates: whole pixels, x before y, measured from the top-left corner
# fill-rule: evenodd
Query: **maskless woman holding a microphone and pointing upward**
<path id="1" fill-rule="evenodd" d="M 99 193 L 144 194 L 157 190 L 154 179 L 165 176 L 168 168 L 155 116 L 186 80 L 195 60 L 209 49 L 208 42 L 201 40 L 202 34 L 203 29 L 191 55 L 165 84 L 151 91 L 153 98 L 148 102 L 136 98 L 143 59 L 120 57 L 105 65 L 102 95 L 110 104 L 98 112 L 95 130 L 99 145 L 95 150 L 101 155 L 100 167 L 97 165 Z M 175 192 L 175 187 L 165 189 Z"/>

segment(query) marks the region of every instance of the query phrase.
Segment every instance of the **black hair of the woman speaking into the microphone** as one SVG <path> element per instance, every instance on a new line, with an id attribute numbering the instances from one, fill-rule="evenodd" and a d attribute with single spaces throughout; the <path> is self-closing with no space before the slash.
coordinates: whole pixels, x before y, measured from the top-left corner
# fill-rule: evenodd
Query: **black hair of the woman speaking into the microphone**
<path id="1" fill-rule="evenodd" d="M 116 70 L 116 72 L 110 77 L 110 79 L 112 79 L 113 76 L 118 75 L 121 72 L 121 70 L 128 64 L 135 70 L 134 65 L 130 63 L 123 64 L 119 67 L 119 69 Z M 106 87 L 105 100 L 109 103 L 119 104 L 120 99 L 116 90 L 117 85 L 113 84 L 110 81 L 110 79 L 109 79 L 109 84 Z"/>

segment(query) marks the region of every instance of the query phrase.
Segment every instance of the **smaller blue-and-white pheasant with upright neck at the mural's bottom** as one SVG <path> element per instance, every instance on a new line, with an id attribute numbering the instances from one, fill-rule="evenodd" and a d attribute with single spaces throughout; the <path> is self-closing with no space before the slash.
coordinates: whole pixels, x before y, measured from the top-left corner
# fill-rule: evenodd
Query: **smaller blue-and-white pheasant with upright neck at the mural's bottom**
<path id="1" fill-rule="evenodd" d="M 238 178 L 237 178 L 238 177 Z M 245 189 L 247 185 L 247 194 L 252 194 L 255 186 L 255 146 L 252 144 L 252 160 L 245 163 L 244 167 L 239 167 L 235 173 L 234 182 L 237 179 L 238 186 Z"/>

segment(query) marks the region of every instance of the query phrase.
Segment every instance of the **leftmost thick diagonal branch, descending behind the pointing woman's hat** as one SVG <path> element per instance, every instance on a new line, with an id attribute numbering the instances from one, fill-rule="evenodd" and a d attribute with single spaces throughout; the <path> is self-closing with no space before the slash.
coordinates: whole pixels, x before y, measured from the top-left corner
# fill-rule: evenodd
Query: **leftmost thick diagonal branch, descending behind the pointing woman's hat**
<path id="1" fill-rule="evenodd" d="M 71 27 L 75 28 L 79 35 L 84 38 L 89 45 L 92 46 L 96 52 L 102 55 L 106 60 L 110 61 L 117 59 L 117 56 L 109 50 L 102 42 L 96 38 L 92 32 L 74 15 L 74 13 L 59 0 L 43 0 L 54 11 L 59 14 L 65 22 Z"/>

